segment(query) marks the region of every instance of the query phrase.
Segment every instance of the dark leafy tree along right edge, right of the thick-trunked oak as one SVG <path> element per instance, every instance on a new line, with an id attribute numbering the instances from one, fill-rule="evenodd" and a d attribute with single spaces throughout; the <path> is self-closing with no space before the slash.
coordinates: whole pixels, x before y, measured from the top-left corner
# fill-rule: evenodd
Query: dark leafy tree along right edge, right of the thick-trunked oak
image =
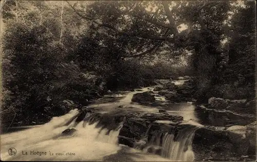
<path id="1" fill-rule="evenodd" d="M 228 67 L 223 73 L 224 81 L 238 86 L 245 86 L 255 96 L 256 76 L 256 4 L 245 1 L 241 8 L 234 9 L 234 15 L 228 25 L 229 40 Z"/>

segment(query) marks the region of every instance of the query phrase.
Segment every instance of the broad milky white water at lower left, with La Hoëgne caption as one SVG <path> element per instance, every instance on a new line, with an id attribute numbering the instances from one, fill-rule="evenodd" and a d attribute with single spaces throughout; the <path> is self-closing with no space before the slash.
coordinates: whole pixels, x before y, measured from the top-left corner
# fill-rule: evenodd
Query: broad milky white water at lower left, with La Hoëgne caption
<path id="1" fill-rule="evenodd" d="M 1 160 L 170 161 L 158 155 L 118 145 L 118 134 L 122 125 L 118 130 L 106 135 L 107 129 L 96 128 L 97 123 L 88 125 L 82 121 L 77 124 L 75 120 L 78 114 L 79 111 L 74 109 L 64 116 L 54 117 L 45 125 L 2 134 Z M 70 136 L 60 136 L 67 128 L 75 128 L 78 131 Z M 15 148 L 16 155 L 10 156 L 9 148 Z"/>

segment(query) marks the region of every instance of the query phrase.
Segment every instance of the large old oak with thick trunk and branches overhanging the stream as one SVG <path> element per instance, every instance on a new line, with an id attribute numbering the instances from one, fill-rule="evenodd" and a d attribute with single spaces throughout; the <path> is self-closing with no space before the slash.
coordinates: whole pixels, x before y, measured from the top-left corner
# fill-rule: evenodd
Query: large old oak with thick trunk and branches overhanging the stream
<path id="1" fill-rule="evenodd" d="M 69 2 L 66 1 L 68 4 Z M 220 41 L 225 31 L 229 1 L 96 1 L 87 6 L 69 6 L 90 22 L 94 33 L 107 35 L 103 44 L 120 50 L 119 57 L 138 57 L 168 43 L 170 50 L 195 52 L 198 98 L 215 84 L 218 57 L 224 55 Z M 181 24 L 188 29 L 179 33 Z M 99 35 L 98 35 L 99 36 Z"/>

